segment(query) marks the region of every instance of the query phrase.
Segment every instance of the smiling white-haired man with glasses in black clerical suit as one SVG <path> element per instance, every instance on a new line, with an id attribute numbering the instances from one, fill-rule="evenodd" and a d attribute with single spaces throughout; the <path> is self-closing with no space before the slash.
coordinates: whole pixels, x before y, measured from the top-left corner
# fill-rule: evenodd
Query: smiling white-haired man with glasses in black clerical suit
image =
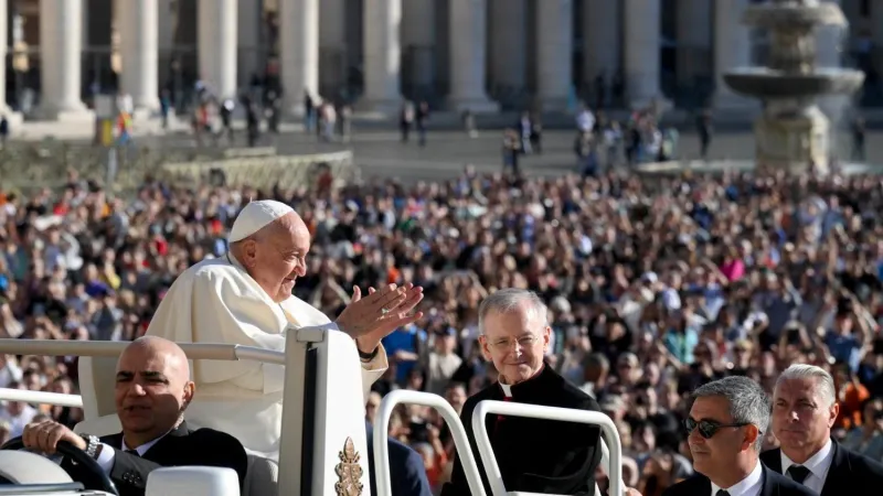
<path id="1" fill-rule="evenodd" d="M 598 403 L 543 362 L 551 328 L 546 308 L 532 292 L 500 290 L 479 309 L 479 337 L 485 357 L 499 371 L 494 384 L 469 398 L 461 420 L 478 462 L 486 492 L 490 485 L 472 432 L 472 411 L 486 399 L 599 411 Z M 600 461 L 600 430 L 594 425 L 521 417 L 485 419 L 507 490 L 592 495 Z M 469 495 L 459 456 L 443 496 Z"/>

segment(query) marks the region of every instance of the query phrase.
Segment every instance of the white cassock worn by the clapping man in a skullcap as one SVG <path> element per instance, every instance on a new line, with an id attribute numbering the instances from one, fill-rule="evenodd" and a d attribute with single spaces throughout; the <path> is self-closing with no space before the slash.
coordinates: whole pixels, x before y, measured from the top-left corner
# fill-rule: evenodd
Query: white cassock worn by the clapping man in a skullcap
<path id="1" fill-rule="evenodd" d="M 288 314 L 288 315 L 286 315 Z M 178 343 L 227 343 L 285 352 L 285 327 L 338 327 L 296 296 L 275 303 L 228 255 L 185 270 L 162 299 L 148 335 Z M 285 367 L 253 360 L 191 362 L 196 395 L 187 420 L 226 432 L 253 454 L 279 459 Z M 362 364 L 363 403 L 386 370 L 386 352 Z"/>

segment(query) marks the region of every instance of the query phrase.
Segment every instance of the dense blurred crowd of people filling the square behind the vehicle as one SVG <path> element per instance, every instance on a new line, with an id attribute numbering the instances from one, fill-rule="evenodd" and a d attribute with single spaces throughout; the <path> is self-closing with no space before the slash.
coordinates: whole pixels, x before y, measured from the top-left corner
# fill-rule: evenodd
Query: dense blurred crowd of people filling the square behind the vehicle
<path id="1" fill-rule="evenodd" d="M 645 495 L 692 473 L 681 423 L 690 391 L 728 375 L 769 391 L 792 363 L 831 371 L 836 435 L 883 461 L 883 181 L 873 176 L 524 179 L 467 168 L 444 184 L 341 190 L 147 180 L 124 201 L 72 173 L 63 191 L 0 195 L 0 336 L 141 335 L 181 271 L 226 251 L 248 198 L 286 202 L 307 223 L 313 246 L 295 293 L 322 312 L 336 315 L 353 285 L 424 288 L 424 319 L 384 339 L 390 368 L 369 420 L 392 389 L 443 395 L 459 410 L 492 384 L 478 306 L 523 288 L 550 309 L 546 363 L 614 419 L 625 482 Z M 76 371 L 70 357 L 0 356 L 0 387 L 70 392 Z M 0 441 L 38 416 L 82 418 L 1 410 Z M 403 408 L 391 429 L 434 486 L 448 481 L 454 444 L 433 411 Z"/>

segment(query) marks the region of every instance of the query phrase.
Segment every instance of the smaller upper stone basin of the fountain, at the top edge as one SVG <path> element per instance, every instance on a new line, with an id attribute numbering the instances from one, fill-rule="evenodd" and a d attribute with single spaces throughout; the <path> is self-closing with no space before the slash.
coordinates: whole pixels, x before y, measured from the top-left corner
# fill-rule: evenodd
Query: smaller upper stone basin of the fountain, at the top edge
<path id="1" fill-rule="evenodd" d="M 797 3 L 763 3 L 745 9 L 742 22 L 755 28 L 808 30 L 819 25 L 845 26 L 847 18 L 837 3 L 820 2 L 801 6 Z"/>

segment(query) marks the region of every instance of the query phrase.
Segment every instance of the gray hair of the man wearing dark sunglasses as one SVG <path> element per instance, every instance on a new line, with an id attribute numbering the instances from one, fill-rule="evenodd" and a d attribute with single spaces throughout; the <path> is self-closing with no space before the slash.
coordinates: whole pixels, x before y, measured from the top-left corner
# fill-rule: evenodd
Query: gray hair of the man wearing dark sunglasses
<path id="1" fill-rule="evenodd" d="M 693 391 L 693 398 L 723 397 L 730 402 L 730 414 L 734 423 L 751 423 L 758 431 L 754 450 L 760 452 L 764 435 L 769 427 L 769 397 L 760 386 L 743 376 L 724 377 Z"/>

